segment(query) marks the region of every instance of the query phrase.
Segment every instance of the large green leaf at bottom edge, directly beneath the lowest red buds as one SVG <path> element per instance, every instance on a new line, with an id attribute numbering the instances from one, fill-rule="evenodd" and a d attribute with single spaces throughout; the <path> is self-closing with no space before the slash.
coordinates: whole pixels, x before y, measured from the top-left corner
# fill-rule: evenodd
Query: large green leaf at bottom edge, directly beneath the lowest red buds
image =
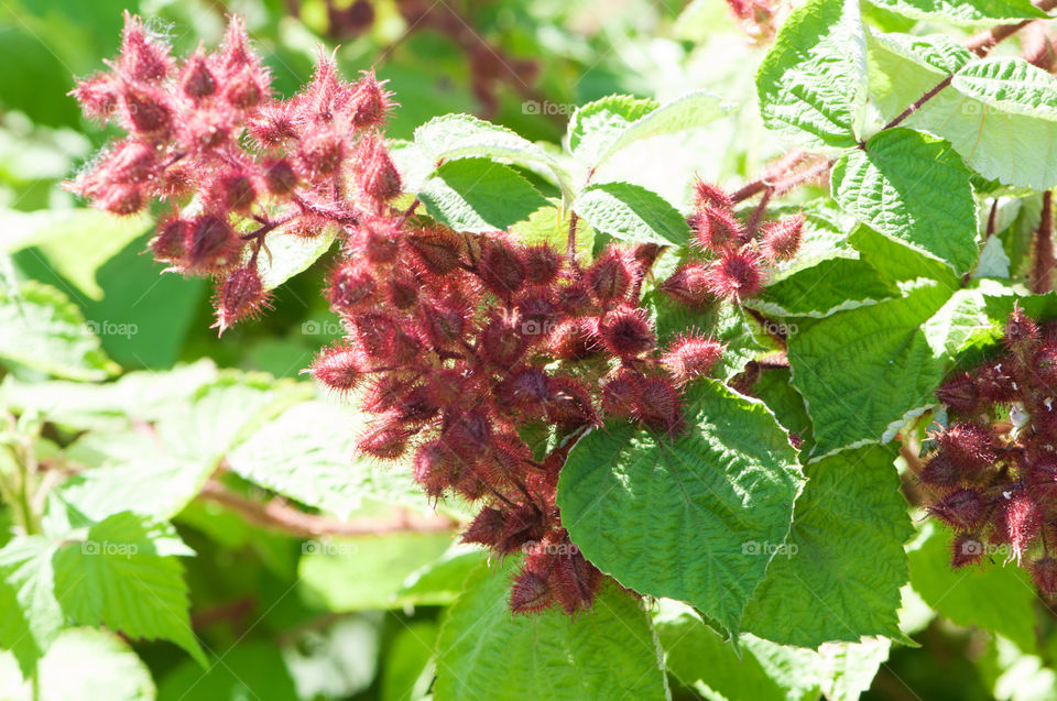
<path id="1" fill-rule="evenodd" d="M 508 565 L 478 568 L 437 642 L 436 701 L 667 698 L 661 653 L 638 600 L 606 583 L 593 610 L 511 615 Z"/>

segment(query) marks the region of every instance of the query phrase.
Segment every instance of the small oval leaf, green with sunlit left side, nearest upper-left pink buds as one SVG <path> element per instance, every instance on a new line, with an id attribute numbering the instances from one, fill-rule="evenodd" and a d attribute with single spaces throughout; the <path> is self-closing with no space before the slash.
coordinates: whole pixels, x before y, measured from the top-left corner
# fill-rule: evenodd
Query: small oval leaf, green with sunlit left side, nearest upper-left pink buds
<path id="1" fill-rule="evenodd" d="M 418 198 L 434 219 L 457 231 L 473 232 L 506 229 L 547 206 L 528 180 L 487 158 L 440 165 Z"/>

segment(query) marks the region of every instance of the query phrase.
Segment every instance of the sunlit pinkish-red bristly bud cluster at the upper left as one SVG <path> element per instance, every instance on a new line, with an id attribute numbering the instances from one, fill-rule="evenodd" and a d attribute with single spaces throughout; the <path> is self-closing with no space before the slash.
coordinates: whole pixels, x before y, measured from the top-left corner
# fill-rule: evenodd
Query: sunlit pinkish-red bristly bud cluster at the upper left
<path id="1" fill-rule="evenodd" d="M 346 84 L 320 56 L 312 83 L 277 100 L 236 17 L 218 51 L 176 61 L 127 13 L 108 65 L 73 95 L 128 135 L 68 186 L 118 215 L 168 202 L 151 248 L 171 270 L 218 281 L 221 332 L 266 302 L 257 259 L 269 233 L 361 223 L 362 233 L 401 193 L 378 132 L 390 96 L 373 74 Z"/>

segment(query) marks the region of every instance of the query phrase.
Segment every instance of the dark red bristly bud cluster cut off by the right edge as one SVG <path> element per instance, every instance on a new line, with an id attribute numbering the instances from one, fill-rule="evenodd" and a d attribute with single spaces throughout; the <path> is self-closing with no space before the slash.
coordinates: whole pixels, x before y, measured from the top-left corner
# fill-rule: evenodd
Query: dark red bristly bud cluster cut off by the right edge
<path id="1" fill-rule="evenodd" d="M 993 548 L 1057 593 L 1057 325 L 1014 309 L 1005 352 L 949 380 L 936 396 L 951 420 L 920 470 L 929 513 L 955 529 L 951 566 Z"/>

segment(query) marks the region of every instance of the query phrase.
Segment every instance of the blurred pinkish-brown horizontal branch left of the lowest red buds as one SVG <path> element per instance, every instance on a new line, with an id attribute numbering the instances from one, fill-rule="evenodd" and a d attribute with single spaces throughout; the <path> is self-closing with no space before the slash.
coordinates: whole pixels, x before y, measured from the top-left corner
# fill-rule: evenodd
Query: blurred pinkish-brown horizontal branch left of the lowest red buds
<path id="1" fill-rule="evenodd" d="M 261 528 L 282 530 L 299 538 L 322 536 L 384 536 L 396 533 L 446 533 L 455 530 L 458 522 L 447 516 L 421 516 L 401 513 L 395 518 L 352 518 L 339 521 L 333 516 L 307 514 L 276 497 L 268 503 L 247 499 L 216 480 L 203 486 L 198 497 L 238 512 L 247 522 Z"/>

